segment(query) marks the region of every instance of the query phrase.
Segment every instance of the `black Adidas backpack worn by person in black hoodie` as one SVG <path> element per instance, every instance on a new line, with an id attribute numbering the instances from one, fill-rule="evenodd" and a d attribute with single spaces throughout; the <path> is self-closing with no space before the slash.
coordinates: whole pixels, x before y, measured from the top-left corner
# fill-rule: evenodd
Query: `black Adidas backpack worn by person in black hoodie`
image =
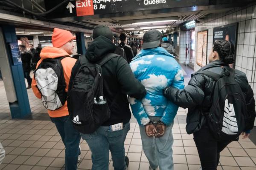
<path id="1" fill-rule="evenodd" d="M 101 66 L 117 56 L 109 53 L 97 63 L 90 63 L 84 55 L 79 57 L 81 66 L 68 91 L 67 107 L 73 127 L 80 133 L 93 133 L 110 118 L 108 102 L 95 104 L 94 98 L 104 96 Z"/>

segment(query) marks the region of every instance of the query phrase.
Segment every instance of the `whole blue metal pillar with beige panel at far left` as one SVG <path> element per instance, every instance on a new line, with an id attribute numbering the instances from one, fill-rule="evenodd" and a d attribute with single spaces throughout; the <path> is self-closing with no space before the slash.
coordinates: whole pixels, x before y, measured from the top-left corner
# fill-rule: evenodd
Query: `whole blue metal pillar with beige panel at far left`
<path id="1" fill-rule="evenodd" d="M 31 110 L 22 64 L 15 58 L 11 50 L 13 46 L 15 46 L 17 50 L 15 27 L 0 25 L 0 28 L 0 51 L 3 52 L 0 58 L 3 63 L 1 63 L 0 66 L 4 69 L 1 69 L 1 71 L 3 73 L 3 81 L 11 115 L 12 118 L 25 118 L 31 115 Z"/>

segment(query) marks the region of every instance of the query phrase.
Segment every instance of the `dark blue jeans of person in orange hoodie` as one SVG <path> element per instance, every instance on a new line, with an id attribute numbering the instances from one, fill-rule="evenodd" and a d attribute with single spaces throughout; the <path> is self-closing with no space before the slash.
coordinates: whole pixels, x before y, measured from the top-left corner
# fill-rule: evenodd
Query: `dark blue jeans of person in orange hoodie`
<path id="1" fill-rule="evenodd" d="M 79 143 L 81 136 L 79 132 L 74 129 L 69 116 L 51 118 L 51 121 L 56 125 L 66 148 L 65 170 L 76 170 L 77 159 L 80 154 Z"/>

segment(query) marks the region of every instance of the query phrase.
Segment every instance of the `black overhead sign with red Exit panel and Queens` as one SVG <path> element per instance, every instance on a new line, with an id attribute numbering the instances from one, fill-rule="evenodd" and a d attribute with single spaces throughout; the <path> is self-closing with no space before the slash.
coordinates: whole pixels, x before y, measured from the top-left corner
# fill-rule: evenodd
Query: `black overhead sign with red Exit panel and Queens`
<path id="1" fill-rule="evenodd" d="M 46 9 L 52 9 L 63 0 L 44 0 Z M 112 14 L 154 9 L 168 9 L 191 6 L 207 6 L 209 0 L 70 0 L 49 18 L 79 17 L 94 14 Z"/>

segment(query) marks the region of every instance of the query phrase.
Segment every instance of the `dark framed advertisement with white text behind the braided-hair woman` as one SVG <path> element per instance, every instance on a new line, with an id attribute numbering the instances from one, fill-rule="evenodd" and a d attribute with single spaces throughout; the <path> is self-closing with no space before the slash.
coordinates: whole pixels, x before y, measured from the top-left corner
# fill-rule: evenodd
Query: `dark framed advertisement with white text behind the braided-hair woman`
<path id="1" fill-rule="evenodd" d="M 218 40 L 228 40 L 233 43 L 236 52 L 237 25 L 237 23 L 232 23 L 225 26 L 215 27 L 213 29 L 213 43 Z M 235 63 L 230 64 L 230 67 L 235 68 Z"/>

